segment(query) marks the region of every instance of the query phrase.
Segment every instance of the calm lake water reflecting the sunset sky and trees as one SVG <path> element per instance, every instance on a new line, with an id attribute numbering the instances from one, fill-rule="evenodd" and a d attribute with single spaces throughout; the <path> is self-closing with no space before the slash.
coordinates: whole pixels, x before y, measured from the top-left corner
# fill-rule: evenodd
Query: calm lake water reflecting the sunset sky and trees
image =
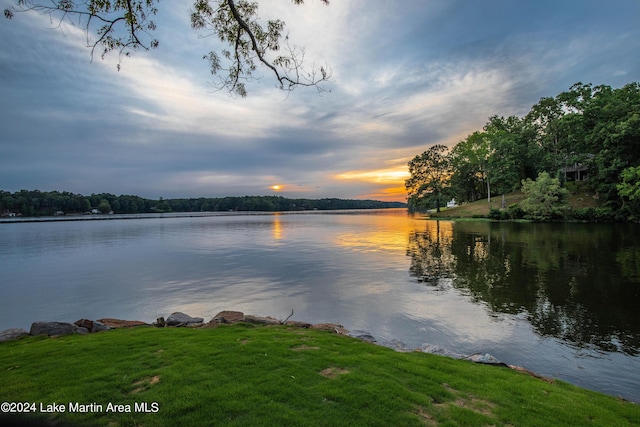
<path id="1" fill-rule="evenodd" d="M 294 309 L 640 402 L 638 307 L 637 225 L 403 210 L 0 224 L 0 330 Z"/>

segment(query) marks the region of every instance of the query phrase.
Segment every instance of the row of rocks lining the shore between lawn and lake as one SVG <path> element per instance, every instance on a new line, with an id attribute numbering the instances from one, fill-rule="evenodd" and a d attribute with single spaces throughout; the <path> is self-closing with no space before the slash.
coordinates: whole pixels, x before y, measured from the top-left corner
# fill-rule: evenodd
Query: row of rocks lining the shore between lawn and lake
<path id="1" fill-rule="evenodd" d="M 431 344 L 423 344 L 421 348 L 414 349 L 414 348 L 407 347 L 402 342 L 397 340 L 379 342 L 378 340 L 376 340 L 375 337 L 373 337 L 367 331 L 360 331 L 360 330 L 349 331 L 344 326 L 337 323 L 312 324 L 312 323 L 301 322 L 297 320 L 289 320 L 289 318 L 292 315 L 293 315 L 293 311 L 291 312 L 291 315 L 287 317 L 285 320 L 278 320 L 276 318 L 269 317 L 269 316 L 267 317 L 253 316 L 249 314 L 244 314 L 243 312 L 240 312 L 240 311 L 225 310 L 213 316 L 211 320 L 206 323 L 204 322 L 204 319 L 202 317 L 192 317 L 182 312 L 171 313 L 166 319 L 164 317 L 160 317 L 156 319 L 156 321 L 153 323 L 146 323 L 140 320 L 122 320 L 122 319 L 112 319 L 112 318 L 103 318 L 98 320 L 80 319 L 74 323 L 39 321 L 39 322 L 34 322 L 31 325 L 31 328 L 29 331 L 26 331 L 22 328 L 13 328 L 13 329 L 6 329 L 4 331 L 0 331 L 0 342 L 19 339 L 24 336 L 46 335 L 49 337 L 57 337 L 57 336 L 71 335 L 71 334 L 84 335 L 84 334 L 98 333 L 98 332 L 103 332 L 103 331 L 108 331 L 111 329 L 118 329 L 118 328 L 132 328 L 132 327 L 215 328 L 224 324 L 244 322 L 244 323 L 252 323 L 257 325 L 265 325 L 265 326 L 287 325 L 287 326 L 294 326 L 298 328 L 309 328 L 309 329 L 329 331 L 338 335 L 358 338 L 362 341 L 367 341 L 370 343 L 375 343 L 378 345 L 389 347 L 400 352 L 420 351 L 423 353 L 438 354 L 441 356 L 447 356 L 447 357 L 452 357 L 456 359 L 466 359 L 475 363 L 505 366 L 512 369 L 524 371 L 523 368 L 502 363 L 499 360 L 497 360 L 495 357 L 491 356 L 490 354 L 462 355 L 462 354 L 447 351 L 442 347 L 434 346 Z M 531 372 L 529 373 L 531 375 L 538 376 Z"/>

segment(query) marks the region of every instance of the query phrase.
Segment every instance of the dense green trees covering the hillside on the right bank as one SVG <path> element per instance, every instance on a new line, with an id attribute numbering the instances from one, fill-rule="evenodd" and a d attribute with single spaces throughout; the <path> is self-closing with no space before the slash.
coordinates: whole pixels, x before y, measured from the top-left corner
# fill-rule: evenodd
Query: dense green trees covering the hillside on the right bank
<path id="1" fill-rule="evenodd" d="M 424 162 L 425 151 L 412 163 Z M 584 181 L 607 216 L 637 220 L 640 199 L 640 83 L 619 89 L 577 83 L 556 97 L 542 98 L 524 117 L 491 117 L 447 154 L 448 169 L 438 188 L 447 197 L 471 202 L 519 190 L 527 179 L 547 173 L 561 184 Z M 412 164 L 410 163 L 410 165 Z M 429 174 L 422 172 L 422 176 Z M 412 208 L 435 208 L 429 179 L 409 199 Z M 554 216 L 557 216 L 556 212 Z"/>

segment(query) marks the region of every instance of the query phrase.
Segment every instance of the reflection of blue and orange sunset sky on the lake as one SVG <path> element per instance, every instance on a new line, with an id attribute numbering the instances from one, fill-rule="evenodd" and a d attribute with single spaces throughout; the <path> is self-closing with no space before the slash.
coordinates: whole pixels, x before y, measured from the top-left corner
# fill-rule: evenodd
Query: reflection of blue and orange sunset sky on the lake
<path id="1" fill-rule="evenodd" d="M 500 235 L 491 242 L 473 235 L 454 254 L 456 227 L 469 226 L 404 212 L 3 225 L 0 329 L 81 317 L 151 322 L 173 311 L 205 321 L 221 310 L 283 319 L 294 309 L 293 319 L 342 323 L 409 347 L 489 352 L 580 385 L 633 390 L 634 377 L 615 384 L 609 365 L 640 371 L 638 358 L 541 337 L 524 312 L 492 311 L 477 290 L 461 286 L 452 261 L 487 262 Z M 528 264 L 553 267 L 521 242 L 514 246 L 526 249 Z M 508 271 L 512 256 L 505 260 Z M 429 281 L 433 271 L 439 279 Z M 586 370 L 596 377 L 584 380 Z"/>

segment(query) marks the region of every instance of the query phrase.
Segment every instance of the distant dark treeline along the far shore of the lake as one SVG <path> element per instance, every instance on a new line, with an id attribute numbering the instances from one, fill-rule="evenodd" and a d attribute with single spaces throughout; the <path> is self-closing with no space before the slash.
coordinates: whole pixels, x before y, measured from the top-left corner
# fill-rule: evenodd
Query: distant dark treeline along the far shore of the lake
<path id="1" fill-rule="evenodd" d="M 345 199 L 287 199 L 280 196 L 242 196 L 222 198 L 190 198 L 150 200 L 140 196 L 102 193 L 83 196 L 66 191 L 0 190 L 2 215 L 45 216 L 56 213 L 152 213 L 152 212 L 217 212 L 217 211 L 298 211 L 329 209 L 380 209 L 406 206 L 399 202 Z"/>

